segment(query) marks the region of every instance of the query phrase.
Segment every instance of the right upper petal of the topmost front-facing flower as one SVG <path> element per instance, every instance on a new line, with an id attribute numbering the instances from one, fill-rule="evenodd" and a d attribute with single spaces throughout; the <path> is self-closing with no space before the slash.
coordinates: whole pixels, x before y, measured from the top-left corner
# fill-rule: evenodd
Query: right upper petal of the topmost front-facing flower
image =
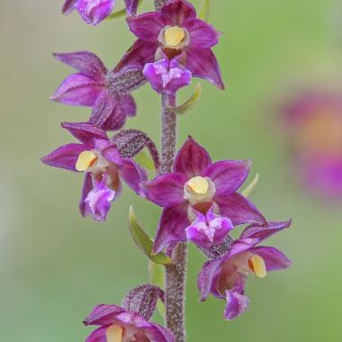
<path id="1" fill-rule="evenodd" d="M 200 19 L 188 20 L 184 28 L 190 33 L 190 43 L 194 48 L 209 49 L 219 42 L 220 32 Z"/>

